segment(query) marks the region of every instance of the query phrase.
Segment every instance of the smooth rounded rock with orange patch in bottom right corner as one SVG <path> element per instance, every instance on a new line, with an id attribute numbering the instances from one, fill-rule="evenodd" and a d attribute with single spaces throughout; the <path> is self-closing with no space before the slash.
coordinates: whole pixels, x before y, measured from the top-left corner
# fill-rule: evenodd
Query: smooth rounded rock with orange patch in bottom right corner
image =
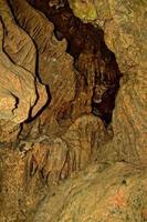
<path id="1" fill-rule="evenodd" d="M 91 165 L 48 195 L 29 222 L 144 222 L 146 171 L 132 164 Z"/>

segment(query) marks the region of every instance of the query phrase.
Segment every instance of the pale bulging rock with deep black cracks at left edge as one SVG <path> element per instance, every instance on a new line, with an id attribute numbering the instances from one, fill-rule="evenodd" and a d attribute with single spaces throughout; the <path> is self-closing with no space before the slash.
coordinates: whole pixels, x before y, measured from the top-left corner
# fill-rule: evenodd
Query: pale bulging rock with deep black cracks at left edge
<path id="1" fill-rule="evenodd" d="M 45 87 L 35 78 L 35 48 L 0 2 L 0 140 L 14 140 L 19 124 L 45 104 Z"/>

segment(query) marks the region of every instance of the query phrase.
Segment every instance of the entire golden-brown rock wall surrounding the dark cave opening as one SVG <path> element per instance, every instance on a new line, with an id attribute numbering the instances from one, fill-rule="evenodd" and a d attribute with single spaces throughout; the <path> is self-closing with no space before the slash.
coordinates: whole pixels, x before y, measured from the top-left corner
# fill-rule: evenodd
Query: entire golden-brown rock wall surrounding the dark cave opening
<path id="1" fill-rule="evenodd" d="M 113 120 L 106 128 L 92 113 L 46 17 L 25 0 L 1 0 L 0 222 L 146 221 L 147 3 L 69 3 L 116 56 Z"/>

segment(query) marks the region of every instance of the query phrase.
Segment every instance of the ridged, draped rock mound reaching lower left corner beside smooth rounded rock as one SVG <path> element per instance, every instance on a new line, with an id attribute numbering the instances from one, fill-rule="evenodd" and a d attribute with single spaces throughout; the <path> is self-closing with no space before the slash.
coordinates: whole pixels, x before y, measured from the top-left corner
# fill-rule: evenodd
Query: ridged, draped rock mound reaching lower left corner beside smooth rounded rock
<path id="1" fill-rule="evenodd" d="M 46 193 L 84 169 L 106 140 L 102 120 L 83 115 L 62 137 L 1 147 L 0 222 L 28 222 Z"/>

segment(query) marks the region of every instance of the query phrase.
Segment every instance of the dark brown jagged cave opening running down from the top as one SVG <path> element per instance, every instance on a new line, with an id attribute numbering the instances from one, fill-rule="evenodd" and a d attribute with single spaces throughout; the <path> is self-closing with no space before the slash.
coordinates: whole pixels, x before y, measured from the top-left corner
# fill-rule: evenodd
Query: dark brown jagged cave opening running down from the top
<path id="1" fill-rule="evenodd" d="M 93 88 L 92 113 L 108 125 L 122 74 L 115 54 L 105 44 L 103 30 L 83 23 L 66 0 L 32 0 L 30 3 L 54 24 L 57 40 L 66 39 L 66 52 L 74 58 L 77 78 L 83 79 L 84 88 Z M 80 82 L 77 84 L 82 88 Z"/>

